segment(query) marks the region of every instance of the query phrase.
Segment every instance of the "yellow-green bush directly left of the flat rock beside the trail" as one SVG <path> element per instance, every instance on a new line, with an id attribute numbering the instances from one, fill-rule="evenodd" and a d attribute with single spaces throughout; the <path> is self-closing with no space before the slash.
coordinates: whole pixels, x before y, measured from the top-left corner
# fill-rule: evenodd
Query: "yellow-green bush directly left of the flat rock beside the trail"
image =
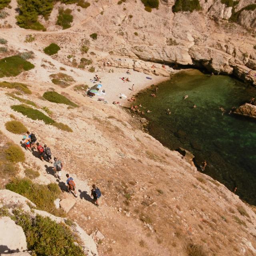
<path id="1" fill-rule="evenodd" d="M 32 180 L 28 178 L 14 178 L 10 183 L 6 184 L 6 189 L 25 196 L 36 204 L 39 210 L 50 212 L 54 215 L 61 214 L 53 203 L 61 192 L 58 184 L 40 185 L 33 183 Z"/>

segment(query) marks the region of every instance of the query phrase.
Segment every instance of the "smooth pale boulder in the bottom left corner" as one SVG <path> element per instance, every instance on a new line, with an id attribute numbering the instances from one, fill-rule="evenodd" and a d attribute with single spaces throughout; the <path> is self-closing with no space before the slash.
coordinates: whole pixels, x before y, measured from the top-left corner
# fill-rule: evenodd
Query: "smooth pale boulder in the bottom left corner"
<path id="1" fill-rule="evenodd" d="M 0 218 L 0 253 L 20 252 L 27 249 L 26 236 L 21 226 L 10 217 Z"/>

